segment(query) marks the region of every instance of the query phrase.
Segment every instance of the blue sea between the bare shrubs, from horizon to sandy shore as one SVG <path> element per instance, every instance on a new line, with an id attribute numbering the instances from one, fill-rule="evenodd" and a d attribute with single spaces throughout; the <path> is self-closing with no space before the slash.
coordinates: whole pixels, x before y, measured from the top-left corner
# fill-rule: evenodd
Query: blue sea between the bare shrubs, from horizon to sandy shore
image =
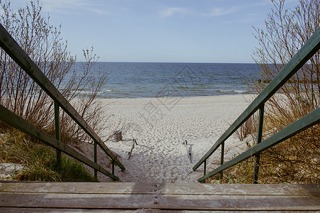
<path id="1" fill-rule="evenodd" d="M 259 73 L 258 65 L 245 63 L 98 62 L 92 72 L 99 67 L 107 69 L 100 98 L 243 94 Z"/>

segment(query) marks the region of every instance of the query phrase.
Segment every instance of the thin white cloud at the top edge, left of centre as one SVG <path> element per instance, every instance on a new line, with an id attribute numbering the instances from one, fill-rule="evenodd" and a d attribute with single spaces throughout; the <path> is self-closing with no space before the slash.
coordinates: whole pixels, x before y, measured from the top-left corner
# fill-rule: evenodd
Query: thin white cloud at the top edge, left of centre
<path id="1" fill-rule="evenodd" d="M 105 11 L 94 6 L 92 2 L 85 0 L 43 0 L 43 11 L 58 11 L 60 13 L 70 13 L 70 11 L 90 11 L 102 15 Z"/>

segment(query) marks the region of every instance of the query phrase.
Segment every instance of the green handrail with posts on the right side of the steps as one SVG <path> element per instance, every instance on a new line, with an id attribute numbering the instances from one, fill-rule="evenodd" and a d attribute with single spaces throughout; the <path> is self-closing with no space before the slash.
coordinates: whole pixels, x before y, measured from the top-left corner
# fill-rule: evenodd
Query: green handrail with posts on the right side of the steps
<path id="1" fill-rule="evenodd" d="M 299 133 L 300 131 L 306 129 L 305 127 L 309 128 L 310 126 L 313 126 L 315 124 L 319 124 L 319 108 L 312 111 L 310 114 L 304 116 L 302 119 L 299 119 L 299 121 L 294 122 L 293 124 L 287 126 L 289 130 L 279 131 L 277 134 L 274 134 L 274 136 L 268 138 L 265 141 L 262 141 L 262 124 L 263 124 L 263 114 L 265 109 L 265 102 L 267 102 L 272 95 L 277 92 L 277 90 L 282 87 L 282 85 L 287 82 L 311 57 L 314 55 L 320 48 L 320 28 L 318 28 L 314 34 L 309 38 L 309 40 L 306 41 L 306 43 L 302 46 L 302 48 L 294 55 L 294 57 L 285 65 L 282 70 L 274 77 L 274 79 L 263 89 L 263 91 L 253 100 L 253 102 L 245 109 L 245 111 L 242 112 L 242 114 L 236 119 L 233 124 L 230 125 L 230 127 L 223 133 L 220 138 L 218 138 L 218 141 L 215 142 L 215 144 L 210 148 L 210 150 L 203 155 L 201 160 L 196 163 L 196 165 L 193 166 L 193 170 L 196 170 L 200 165 L 204 163 L 204 175 L 202 178 L 199 178 L 198 181 L 203 181 L 206 178 L 209 178 L 212 175 L 216 175 L 220 173 L 220 179 L 223 178 L 223 170 L 226 168 L 229 168 L 232 165 L 235 165 L 236 163 L 240 163 L 242 160 L 245 160 L 247 158 L 250 158 L 250 156 L 255 155 L 256 156 L 256 162 L 255 162 L 255 181 L 254 183 L 257 183 L 257 173 L 258 173 L 258 164 L 259 164 L 259 153 L 264 151 L 267 148 L 270 148 L 277 143 L 280 143 L 281 141 L 284 141 L 285 139 L 294 136 L 294 134 Z M 259 124 L 258 124 L 258 132 L 257 132 L 257 145 L 251 148 L 249 151 L 245 151 L 245 153 L 242 153 L 238 155 L 233 160 L 230 160 L 228 163 L 223 163 L 223 155 L 224 155 L 224 143 L 225 141 L 235 132 L 237 129 L 247 121 L 247 119 L 252 116 L 257 110 L 260 111 L 259 116 Z M 314 119 L 312 116 L 314 116 L 315 120 L 311 123 L 303 123 L 306 121 L 311 121 Z M 298 122 L 298 123 L 297 123 Z M 297 124 L 296 124 L 297 123 Z M 286 129 L 287 129 L 286 128 Z M 287 133 L 287 131 L 292 131 L 294 134 L 289 134 L 289 137 L 284 137 L 284 135 Z M 262 141 L 262 142 L 261 142 Z M 267 145 L 266 144 L 269 144 Z M 206 161 L 212 155 L 218 148 L 221 146 L 221 164 L 220 167 L 211 171 L 210 173 L 206 174 Z M 261 148 L 262 147 L 262 148 Z"/>

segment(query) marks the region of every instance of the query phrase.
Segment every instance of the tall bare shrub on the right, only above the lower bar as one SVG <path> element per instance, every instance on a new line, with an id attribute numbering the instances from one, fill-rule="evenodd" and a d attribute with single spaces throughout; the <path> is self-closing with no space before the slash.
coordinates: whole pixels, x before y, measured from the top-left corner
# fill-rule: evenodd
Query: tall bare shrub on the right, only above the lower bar
<path id="1" fill-rule="evenodd" d="M 260 48 L 253 57 L 261 67 L 262 82 L 270 82 L 282 70 L 320 23 L 320 3 L 317 0 L 299 1 L 294 9 L 284 9 L 284 0 L 272 2 L 274 9 L 267 17 L 265 30 L 255 29 Z M 318 52 L 279 89 L 282 95 L 270 98 L 267 108 L 271 114 L 296 121 L 319 107 L 319 77 Z M 256 82 L 251 88 L 260 93 L 265 84 Z"/>

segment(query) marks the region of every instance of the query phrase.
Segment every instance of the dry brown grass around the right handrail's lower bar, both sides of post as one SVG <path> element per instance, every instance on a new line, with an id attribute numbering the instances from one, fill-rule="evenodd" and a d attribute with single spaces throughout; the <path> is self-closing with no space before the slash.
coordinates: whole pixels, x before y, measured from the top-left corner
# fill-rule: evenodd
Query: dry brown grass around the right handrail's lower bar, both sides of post
<path id="1" fill-rule="evenodd" d="M 290 110 L 290 109 L 287 109 Z M 289 114 L 289 112 L 285 112 Z M 277 116 L 270 116 L 272 112 L 268 112 L 265 117 L 265 137 L 277 133 L 285 126 L 291 124 L 291 118 L 280 119 Z M 278 119 L 274 119 L 277 117 Z M 281 120 L 281 122 L 279 122 Z M 273 122 L 276 122 L 274 124 Z M 255 122 L 257 123 L 257 122 Z M 281 124 L 281 125 L 280 125 Z M 248 125 L 252 124 L 252 120 L 247 121 Z M 238 133 L 240 141 L 247 143 L 247 148 L 255 145 L 257 132 L 252 128 L 253 133 L 242 128 L 245 133 Z M 313 126 L 292 138 L 277 144 L 276 146 L 264 151 L 260 155 L 260 171 L 259 183 L 319 183 L 320 182 L 320 124 Z M 242 163 L 228 168 L 223 172 L 223 183 L 252 183 L 255 157 L 247 159 Z M 219 175 L 208 178 L 206 182 L 219 182 Z"/>

